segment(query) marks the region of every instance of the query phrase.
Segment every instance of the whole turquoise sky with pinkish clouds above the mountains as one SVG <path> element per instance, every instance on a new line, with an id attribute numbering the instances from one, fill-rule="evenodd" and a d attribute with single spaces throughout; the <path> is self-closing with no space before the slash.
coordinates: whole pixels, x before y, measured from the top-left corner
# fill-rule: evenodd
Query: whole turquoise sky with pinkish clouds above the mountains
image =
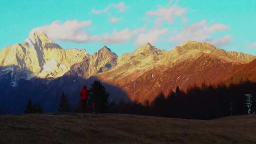
<path id="1" fill-rule="evenodd" d="M 187 40 L 256 55 L 256 0 L 2 0 L 0 49 L 34 28 L 63 48 L 121 55 L 146 42 L 170 50 Z"/>

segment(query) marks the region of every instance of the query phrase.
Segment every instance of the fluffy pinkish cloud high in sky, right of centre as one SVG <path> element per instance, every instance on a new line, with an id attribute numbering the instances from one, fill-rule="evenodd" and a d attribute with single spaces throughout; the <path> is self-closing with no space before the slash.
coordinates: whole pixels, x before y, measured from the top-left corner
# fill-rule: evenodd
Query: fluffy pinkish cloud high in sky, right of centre
<path id="1" fill-rule="evenodd" d="M 156 16 L 155 23 L 161 24 L 163 21 L 168 21 L 169 24 L 172 24 L 175 20 L 175 17 L 183 16 L 187 11 L 187 8 L 179 8 L 177 5 L 172 7 L 163 7 L 158 8 L 154 11 L 147 11 L 147 16 Z"/>

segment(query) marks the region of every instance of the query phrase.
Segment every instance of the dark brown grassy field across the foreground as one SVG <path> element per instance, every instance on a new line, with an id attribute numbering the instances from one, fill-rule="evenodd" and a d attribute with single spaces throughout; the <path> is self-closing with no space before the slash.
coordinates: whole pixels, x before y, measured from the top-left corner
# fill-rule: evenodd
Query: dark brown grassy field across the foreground
<path id="1" fill-rule="evenodd" d="M 256 115 L 214 120 L 125 114 L 3 115 L 0 144 L 256 144 Z"/>

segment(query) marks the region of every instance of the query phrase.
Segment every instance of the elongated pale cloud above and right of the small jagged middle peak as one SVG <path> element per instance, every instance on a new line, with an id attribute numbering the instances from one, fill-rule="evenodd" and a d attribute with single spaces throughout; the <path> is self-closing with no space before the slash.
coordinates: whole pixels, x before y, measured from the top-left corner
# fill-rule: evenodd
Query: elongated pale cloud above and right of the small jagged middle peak
<path id="1" fill-rule="evenodd" d="M 103 35 L 103 42 L 105 44 L 114 44 L 114 43 L 123 43 L 127 42 L 128 40 L 132 39 L 134 36 L 143 32 L 144 28 L 137 28 L 133 31 L 130 31 L 129 28 L 125 28 L 119 32 L 114 31 L 112 35 L 108 33 Z"/>

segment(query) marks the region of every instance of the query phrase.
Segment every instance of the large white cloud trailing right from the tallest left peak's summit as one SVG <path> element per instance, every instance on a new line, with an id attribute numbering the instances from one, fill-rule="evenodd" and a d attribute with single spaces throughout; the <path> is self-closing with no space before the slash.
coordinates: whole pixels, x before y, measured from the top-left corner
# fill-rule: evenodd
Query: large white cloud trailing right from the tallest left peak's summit
<path id="1" fill-rule="evenodd" d="M 89 34 L 82 29 L 90 25 L 90 20 L 80 22 L 77 20 L 68 20 L 63 24 L 61 21 L 57 20 L 50 25 L 33 29 L 29 35 L 34 31 L 42 31 L 52 40 L 71 41 L 76 43 L 99 41 L 100 36 L 89 36 Z"/>

